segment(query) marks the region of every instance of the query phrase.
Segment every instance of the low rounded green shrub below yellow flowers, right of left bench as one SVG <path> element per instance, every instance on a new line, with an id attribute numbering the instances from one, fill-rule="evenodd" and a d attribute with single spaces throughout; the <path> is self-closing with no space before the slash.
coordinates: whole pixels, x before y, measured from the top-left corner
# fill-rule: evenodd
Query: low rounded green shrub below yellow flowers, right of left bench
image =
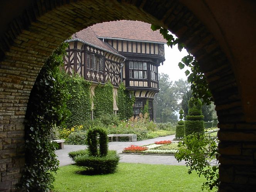
<path id="1" fill-rule="evenodd" d="M 71 132 L 65 143 L 69 145 L 86 145 L 86 135 L 87 132 L 83 130 Z"/>

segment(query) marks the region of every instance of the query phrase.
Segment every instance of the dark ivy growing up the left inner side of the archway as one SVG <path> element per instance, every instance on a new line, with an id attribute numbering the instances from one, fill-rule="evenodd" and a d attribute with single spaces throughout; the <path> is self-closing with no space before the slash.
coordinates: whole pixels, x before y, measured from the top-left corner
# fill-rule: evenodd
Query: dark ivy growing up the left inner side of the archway
<path id="1" fill-rule="evenodd" d="M 59 166 L 50 141 L 52 128 L 61 125 L 69 115 L 66 100 L 69 94 L 59 76 L 67 43 L 62 43 L 48 58 L 31 90 L 25 115 L 25 170 L 20 189 L 26 191 L 51 191 L 54 175 Z"/>

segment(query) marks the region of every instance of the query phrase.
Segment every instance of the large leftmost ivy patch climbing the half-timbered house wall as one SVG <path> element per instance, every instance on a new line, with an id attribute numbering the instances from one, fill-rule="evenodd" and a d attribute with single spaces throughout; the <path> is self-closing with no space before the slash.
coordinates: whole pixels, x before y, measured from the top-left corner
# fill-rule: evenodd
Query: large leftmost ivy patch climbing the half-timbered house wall
<path id="1" fill-rule="evenodd" d="M 71 116 L 66 120 L 67 127 L 81 125 L 91 119 L 91 82 L 86 81 L 79 74 L 67 74 L 62 71 L 63 81 L 67 84 L 67 91 L 71 97 L 67 100 L 67 108 Z"/>

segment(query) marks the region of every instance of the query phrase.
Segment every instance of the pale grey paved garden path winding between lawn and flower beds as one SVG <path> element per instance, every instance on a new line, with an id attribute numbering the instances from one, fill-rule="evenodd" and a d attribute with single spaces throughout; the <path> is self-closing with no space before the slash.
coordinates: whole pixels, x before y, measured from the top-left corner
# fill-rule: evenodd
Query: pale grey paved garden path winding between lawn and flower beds
<path id="1" fill-rule="evenodd" d="M 147 145 L 152 144 L 155 141 L 163 140 L 173 140 L 175 135 L 157 137 L 154 139 L 147 139 L 143 141 L 136 142 L 109 142 L 108 146 L 111 150 L 116 150 L 118 153 L 121 153 L 125 147 L 130 145 Z M 56 150 L 56 154 L 60 161 L 60 166 L 66 166 L 72 164 L 71 158 L 69 158 L 68 153 L 70 151 L 77 151 L 80 149 L 85 149 L 84 145 L 65 145 L 64 149 Z M 120 162 L 128 163 L 145 163 L 145 164 L 165 164 L 165 165 L 185 165 L 185 161 L 178 162 L 173 155 L 133 155 L 133 154 L 120 154 Z"/>

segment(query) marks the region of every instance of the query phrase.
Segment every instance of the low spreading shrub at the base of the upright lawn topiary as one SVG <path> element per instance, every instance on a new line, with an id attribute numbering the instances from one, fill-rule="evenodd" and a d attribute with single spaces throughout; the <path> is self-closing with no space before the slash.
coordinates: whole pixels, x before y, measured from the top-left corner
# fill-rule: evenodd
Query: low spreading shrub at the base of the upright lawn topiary
<path id="1" fill-rule="evenodd" d="M 85 174 L 108 174 L 116 170 L 120 157 L 114 150 L 109 150 L 106 156 L 91 156 L 90 153 L 77 155 L 74 161 L 77 166 L 84 167 Z"/>

